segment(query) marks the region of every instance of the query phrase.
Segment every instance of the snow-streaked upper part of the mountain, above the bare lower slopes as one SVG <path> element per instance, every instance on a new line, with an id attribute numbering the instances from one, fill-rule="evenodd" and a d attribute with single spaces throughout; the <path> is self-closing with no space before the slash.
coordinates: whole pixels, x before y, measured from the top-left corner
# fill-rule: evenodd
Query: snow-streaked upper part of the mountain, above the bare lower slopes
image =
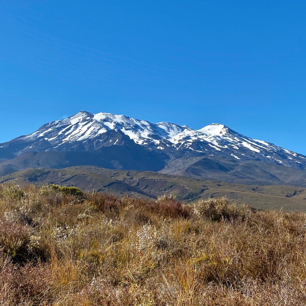
<path id="1" fill-rule="evenodd" d="M 111 131 L 115 133 L 110 134 Z M 150 150 L 163 150 L 169 155 L 227 155 L 237 160 L 265 159 L 296 168 L 306 166 L 305 156 L 241 135 L 225 125 L 212 123 L 194 130 L 170 122 L 151 123 L 124 115 L 86 111 L 47 123 L 32 134 L 17 138 L 21 147 L 10 152 L 20 155 L 26 151 L 98 149 L 121 144 L 118 132 L 136 144 Z M 9 149 L 10 145 L 9 142 L 0 147 Z"/>

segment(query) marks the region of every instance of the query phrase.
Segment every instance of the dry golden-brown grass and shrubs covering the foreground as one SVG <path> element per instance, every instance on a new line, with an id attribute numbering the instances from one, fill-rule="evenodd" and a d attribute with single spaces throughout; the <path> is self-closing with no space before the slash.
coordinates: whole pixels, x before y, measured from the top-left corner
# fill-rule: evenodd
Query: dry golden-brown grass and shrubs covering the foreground
<path id="1" fill-rule="evenodd" d="M 0 185 L 0 304 L 305 305 L 306 214 Z"/>

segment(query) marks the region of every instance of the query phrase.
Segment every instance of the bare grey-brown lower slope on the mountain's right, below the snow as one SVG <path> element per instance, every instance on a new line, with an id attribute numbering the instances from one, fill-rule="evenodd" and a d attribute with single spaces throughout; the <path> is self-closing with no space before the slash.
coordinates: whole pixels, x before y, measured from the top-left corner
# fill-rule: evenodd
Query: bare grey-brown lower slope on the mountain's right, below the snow
<path id="1" fill-rule="evenodd" d="M 237 161 L 214 156 L 181 158 L 168 162 L 159 172 L 247 185 L 306 186 L 306 171 L 256 160 Z"/>

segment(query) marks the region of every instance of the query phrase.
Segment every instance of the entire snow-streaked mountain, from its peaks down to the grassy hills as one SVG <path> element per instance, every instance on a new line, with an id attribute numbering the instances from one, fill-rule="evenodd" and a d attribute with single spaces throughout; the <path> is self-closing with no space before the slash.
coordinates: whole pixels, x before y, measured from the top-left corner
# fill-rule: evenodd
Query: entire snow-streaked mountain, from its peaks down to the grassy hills
<path id="1" fill-rule="evenodd" d="M 92 165 L 248 185 L 306 186 L 306 156 L 212 123 L 170 122 L 86 111 L 0 144 L 0 175 Z"/>

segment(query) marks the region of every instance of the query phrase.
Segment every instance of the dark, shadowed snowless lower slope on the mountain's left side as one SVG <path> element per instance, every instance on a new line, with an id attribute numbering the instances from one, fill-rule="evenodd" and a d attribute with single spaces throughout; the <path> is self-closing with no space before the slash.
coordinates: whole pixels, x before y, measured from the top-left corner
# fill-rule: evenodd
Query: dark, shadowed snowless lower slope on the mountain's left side
<path id="1" fill-rule="evenodd" d="M 109 169 L 134 169 L 158 171 L 165 166 L 167 158 L 162 152 L 148 151 L 131 143 L 124 146 L 101 147 L 91 151 L 28 151 L 0 163 L 0 175 L 27 168 L 65 168 L 91 165 Z"/>

